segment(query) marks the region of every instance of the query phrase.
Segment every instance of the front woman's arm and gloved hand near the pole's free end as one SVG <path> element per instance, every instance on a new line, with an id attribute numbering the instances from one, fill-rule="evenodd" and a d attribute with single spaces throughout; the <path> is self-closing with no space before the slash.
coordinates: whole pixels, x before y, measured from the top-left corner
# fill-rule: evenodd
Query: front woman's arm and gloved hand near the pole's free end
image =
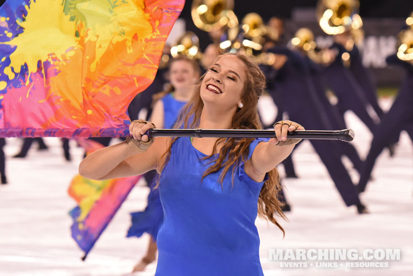
<path id="1" fill-rule="evenodd" d="M 288 131 L 304 130 L 304 128 L 295 122 L 281 121 L 276 123 L 274 130 L 276 138 L 259 143 L 252 153 L 251 159 L 245 164 L 245 172 L 255 181 L 262 181 L 265 174 L 287 158 L 294 146 L 300 141 L 287 139 Z M 285 145 L 280 146 L 280 144 Z"/>

